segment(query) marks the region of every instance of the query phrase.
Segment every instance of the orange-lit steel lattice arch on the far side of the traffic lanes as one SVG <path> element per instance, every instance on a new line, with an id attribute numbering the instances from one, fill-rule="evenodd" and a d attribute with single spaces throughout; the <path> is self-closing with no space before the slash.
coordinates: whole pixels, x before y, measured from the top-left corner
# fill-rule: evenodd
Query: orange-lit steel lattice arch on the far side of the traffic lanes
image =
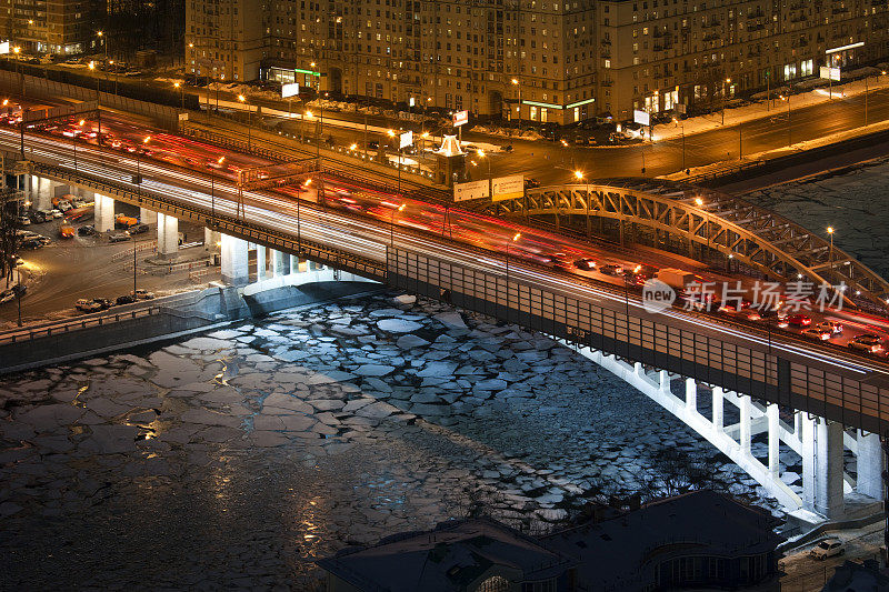
<path id="1" fill-rule="evenodd" d="M 470 205 L 471 207 L 471 205 Z M 889 282 L 848 253 L 777 213 L 711 189 L 661 179 L 603 179 L 550 185 L 523 197 L 479 203 L 475 209 L 507 217 L 552 215 L 611 219 L 707 247 L 783 281 L 810 281 L 848 288 L 851 304 L 869 302 L 886 312 Z"/>

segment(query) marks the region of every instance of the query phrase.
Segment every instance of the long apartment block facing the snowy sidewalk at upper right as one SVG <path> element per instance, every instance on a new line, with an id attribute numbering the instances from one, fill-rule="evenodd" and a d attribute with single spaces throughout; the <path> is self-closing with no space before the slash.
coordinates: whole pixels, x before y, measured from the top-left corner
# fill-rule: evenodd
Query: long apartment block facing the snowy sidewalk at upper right
<path id="1" fill-rule="evenodd" d="M 787 91 L 821 66 L 889 57 L 887 0 L 600 0 L 597 103 L 633 109 L 718 104 L 760 89 Z"/>

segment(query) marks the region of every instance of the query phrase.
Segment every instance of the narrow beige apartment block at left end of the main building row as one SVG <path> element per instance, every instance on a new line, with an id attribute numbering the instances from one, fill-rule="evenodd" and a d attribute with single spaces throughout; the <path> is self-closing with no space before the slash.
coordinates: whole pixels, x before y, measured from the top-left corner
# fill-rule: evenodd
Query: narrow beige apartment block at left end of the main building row
<path id="1" fill-rule="evenodd" d="M 256 0 L 186 0 L 186 71 L 216 80 L 259 78 L 266 14 Z"/>

